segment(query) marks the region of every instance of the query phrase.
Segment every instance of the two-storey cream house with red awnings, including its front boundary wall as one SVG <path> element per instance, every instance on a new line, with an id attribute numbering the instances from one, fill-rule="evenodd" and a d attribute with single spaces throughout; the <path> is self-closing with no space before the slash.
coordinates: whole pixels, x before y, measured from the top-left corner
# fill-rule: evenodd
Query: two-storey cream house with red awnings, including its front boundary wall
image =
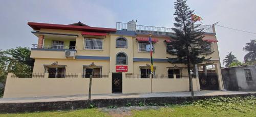
<path id="1" fill-rule="evenodd" d="M 38 37 L 38 43 L 33 44 L 31 48 L 31 57 L 35 59 L 31 77 L 46 78 L 31 79 L 33 81 L 30 81 L 29 91 L 36 92 L 36 95 L 24 89 L 27 91 L 24 93 L 30 96 L 86 94 L 88 89 L 81 91 L 82 88 L 86 88 L 81 82 L 85 79 L 88 81 L 90 75 L 93 75 L 95 80 L 93 89 L 97 89 L 97 91 L 92 90 L 93 94 L 189 90 L 186 65 L 167 62 L 166 57 L 172 57 L 167 51 L 175 51 L 169 44 L 175 35 L 171 28 L 137 25 L 135 21 L 118 22 L 116 28 L 92 27 L 81 22 L 69 25 L 28 22 L 28 25 L 34 30 L 32 34 Z M 201 90 L 222 90 L 215 27 L 201 25 L 199 28 L 205 29 L 203 40 L 211 42 L 202 47 L 206 48 L 205 52 L 214 51 L 214 53 L 207 56 L 211 57 L 209 62 L 197 66 L 214 65 L 215 74 L 214 77 L 205 77 L 205 74 L 202 77 L 200 74 L 198 76 L 198 67 L 196 67 L 194 71 L 197 78 L 193 79 L 194 89 L 196 91 L 200 88 Z M 153 80 L 150 79 L 150 44 L 148 43 L 150 32 L 154 51 Z M 9 78 L 9 80 L 7 87 L 10 86 L 9 89 L 12 89 L 10 91 L 14 92 L 16 87 L 11 87 L 11 83 L 19 85 L 24 79 Z M 20 81 L 16 82 L 16 80 Z M 44 81 L 39 82 L 39 80 Z M 45 80 L 49 80 L 50 83 Z M 207 87 L 208 83 L 215 85 L 215 89 Z M 19 88 L 19 90 L 22 89 Z M 15 97 L 12 94 L 6 93 L 6 97 Z"/>

